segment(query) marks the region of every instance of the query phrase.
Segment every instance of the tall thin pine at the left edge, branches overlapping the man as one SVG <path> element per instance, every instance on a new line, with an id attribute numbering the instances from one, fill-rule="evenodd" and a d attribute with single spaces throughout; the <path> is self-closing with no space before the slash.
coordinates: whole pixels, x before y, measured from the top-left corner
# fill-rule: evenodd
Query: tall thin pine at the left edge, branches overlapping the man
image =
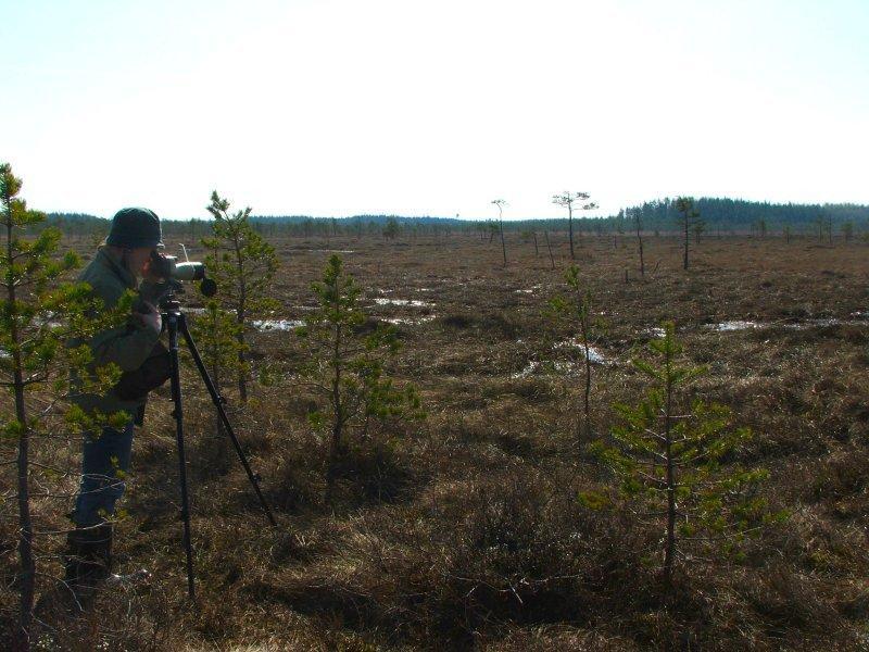
<path id="1" fill-rule="evenodd" d="M 18 198 L 21 187 L 11 165 L 0 164 L 0 387 L 12 398 L 0 402 L 0 443 L 16 449 L 20 617 L 15 641 L 27 650 L 37 573 L 34 537 L 37 529 L 55 529 L 34 527 L 30 487 L 51 487 L 61 476 L 49 461 L 34 459 L 33 444 L 37 437 L 93 429 L 104 423 L 117 427 L 126 421 L 123 414 L 86 415 L 63 399 L 72 391 L 71 372 L 80 379 L 79 391 L 102 393 L 117 381 L 121 371 L 115 365 L 89 368 L 92 355 L 87 344 L 67 347 L 66 342 L 84 341 L 97 329 L 115 325 L 116 316 L 129 310 L 131 296 L 117 310 L 100 311 L 86 284 L 63 283 L 78 266 L 78 256 L 72 252 L 55 256 L 61 233 L 41 228 L 46 215 L 27 209 Z M 28 230 L 38 235 L 28 238 Z M 93 314 L 100 317 L 90 318 Z"/>

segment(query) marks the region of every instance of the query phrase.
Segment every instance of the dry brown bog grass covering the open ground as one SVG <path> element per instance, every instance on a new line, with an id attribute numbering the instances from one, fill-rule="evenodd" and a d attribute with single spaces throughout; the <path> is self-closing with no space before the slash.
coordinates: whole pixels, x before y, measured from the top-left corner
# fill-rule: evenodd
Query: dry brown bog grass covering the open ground
<path id="1" fill-rule="evenodd" d="M 199 603 L 188 609 L 184 600 L 164 394 L 135 444 L 130 518 L 118 537 L 124 567 L 150 566 L 155 580 L 130 595 L 106 593 L 99 616 L 67 628 L 65 640 L 79 649 L 103 641 L 239 651 L 869 644 L 869 326 L 792 327 L 869 310 L 869 250 L 708 238 L 684 273 L 678 242 L 652 239 L 647 267 L 657 271 L 641 281 L 626 242 L 614 249 L 609 239 L 584 238 L 578 250 L 594 310 L 608 323 L 597 347 L 617 363 L 594 367 L 594 430 L 613 425 L 614 401 L 642 391 L 627 362 L 648 328 L 676 319 L 689 355 L 710 366 L 693 391 L 752 426 L 756 438 L 740 456 L 770 469 L 767 497 L 792 513 L 748 544 L 744 563 L 694 566 L 663 600 L 646 561 L 659 532 L 577 500 L 607 482 L 576 441 L 579 377 L 522 373 L 531 361 L 567 360 L 552 343 L 574 334 L 541 316 L 563 289 L 563 239 L 552 272 L 545 253 L 534 256 L 518 238 L 508 241 L 506 268 L 500 248 L 476 237 L 332 238 L 331 248 L 353 250 L 344 260 L 369 289 L 366 302 L 431 304 L 370 310 L 433 317 L 399 324 L 404 349 L 394 369 L 419 386 L 428 418 L 387 423 L 355 442 L 337 500 L 325 504 L 325 444 L 305 422 L 313 397 L 291 376 L 300 349 L 290 334 L 260 334 L 257 364 L 278 365 L 287 379 L 255 388 L 251 405 L 232 416 L 277 512 L 272 531 L 231 449 L 215 441 L 210 403 L 188 369 Z M 284 308 L 276 317 L 304 315 L 327 255 L 312 250 L 324 247 L 277 242 Z M 731 319 L 774 324 L 707 327 Z M 4 555 L 7 570 L 13 562 Z M 11 601 L 5 592 L 2 605 Z"/>

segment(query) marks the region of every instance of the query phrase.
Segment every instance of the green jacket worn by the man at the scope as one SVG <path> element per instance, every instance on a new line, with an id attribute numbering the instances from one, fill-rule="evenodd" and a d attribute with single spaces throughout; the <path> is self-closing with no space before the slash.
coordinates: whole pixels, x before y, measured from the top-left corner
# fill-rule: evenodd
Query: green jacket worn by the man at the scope
<path id="1" fill-rule="evenodd" d="M 136 289 L 136 277 L 105 247 L 97 250 L 97 255 L 78 275 L 78 280 L 87 283 L 93 294 L 102 299 L 103 306 L 106 309 L 114 308 L 124 292 Z M 143 297 L 156 297 L 159 287 L 158 284 L 143 280 L 138 288 L 140 298 L 137 301 L 141 301 Z M 93 352 L 92 366 L 96 368 L 115 363 L 122 372 L 135 371 L 148 359 L 159 339 L 160 330 L 154 330 L 130 315 L 125 326 L 102 330 L 90 339 L 88 344 Z M 76 339 L 70 341 L 70 346 L 80 346 L 81 343 L 81 340 Z M 75 375 L 73 375 L 72 384 L 75 391 L 75 388 L 79 386 Z M 92 410 L 99 410 L 109 415 L 124 411 L 141 425 L 147 399 L 124 401 L 113 391 L 109 391 L 104 396 L 74 393 L 71 400 L 89 413 Z"/>

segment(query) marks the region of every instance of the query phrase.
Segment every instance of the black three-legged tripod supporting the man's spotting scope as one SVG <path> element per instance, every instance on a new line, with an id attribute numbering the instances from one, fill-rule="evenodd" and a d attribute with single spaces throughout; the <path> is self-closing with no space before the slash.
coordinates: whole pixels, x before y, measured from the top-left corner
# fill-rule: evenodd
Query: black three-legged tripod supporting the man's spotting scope
<path id="1" fill-rule="evenodd" d="M 190 335 L 190 330 L 187 328 L 187 318 L 181 312 L 180 303 L 175 299 L 174 294 L 169 293 L 164 298 L 163 301 L 161 301 L 161 311 L 163 323 L 166 324 L 166 329 L 169 334 L 169 358 L 172 361 L 172 375 L 169 378 L 172 385 L 172 401 L 175 403 L 175 410 L 173 411 L 172 415 L 175 418 L 175 438 L 178 446 L 178 464 L 180 471 L 179 478 L 181 485 L 184 548 L 185 553 L 187 554 L 187 592 L 190 595 L 190 600 L 194 600 L 196 589 L 193 587 L 193 551 L 190 546 L 190 500 L 187 492 L 187 462 L 184 452 L 184 402 L 181 398 L 180 365 L 178 363 L 178 333 L 180 333 L 184 337 L 187 348 L 190 351 L 190 354 L 193 356 L 193 362 L 197 365 L 199 375 L 202 377 L 202 381 L 205 384 L 205 387 L 211 394 L 211 400 L 214 403 L 214 406 L 217 409 L 221 423 L 223 424 L 227 435 L 229 435 L 229 439 L 232 441 L 236 453 L 238 453 L 238 457 L 241 460 L 241 465 L 244 467 L 244 471 L 248 474 L 248 479 L 250 480 L 253 490 L 260 498 L 260 503 L 263 505 L 263 511 L 268 517 L 268 522 L 273 526 L 276 526 L 277 523 L 275 523 L 275 517 L 272 515 L 272 510 L 268 509 L 268 503 L 265 502 L 263 492 L 260 490 L 260 484 L 257 481 L 259 477 L 251 471 L 251 466 L 248 464 L 248 457 L 244 455 L 244 451 L 241 450 L 241 444 L 238 442 L 235 430 L 232 430 L 232 425 L 229 423 L 229 418 L 226 416 L 226 411 L 224 410 L 226 399 L 221 396 L 221 393 L 217 391 L 217 387 L 211 379 L 211 376 L 209 376 L 209 372 L 205 369 L 202 358 L 199 355 L 199 351 L 197 350 L 196 342 L 193 342 L 193 337 Z"/>

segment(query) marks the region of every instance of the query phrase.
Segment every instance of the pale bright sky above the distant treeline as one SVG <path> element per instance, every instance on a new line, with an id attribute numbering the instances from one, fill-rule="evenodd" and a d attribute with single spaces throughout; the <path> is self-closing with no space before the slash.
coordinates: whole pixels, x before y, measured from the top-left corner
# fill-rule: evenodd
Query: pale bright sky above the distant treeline
<path id="1" fill-rule="evenodd" d="M 869 0 L 0 0 L 43 211 L 613 214 L 869 203 Z"/>

